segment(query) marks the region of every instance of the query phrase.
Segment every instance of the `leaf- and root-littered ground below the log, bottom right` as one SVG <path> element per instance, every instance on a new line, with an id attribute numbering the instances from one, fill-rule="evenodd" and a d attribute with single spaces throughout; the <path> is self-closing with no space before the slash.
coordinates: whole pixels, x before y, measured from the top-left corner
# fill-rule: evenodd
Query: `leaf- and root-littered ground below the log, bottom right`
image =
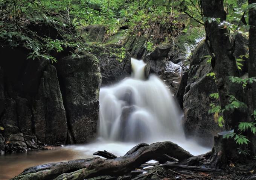
<path id="1" fill-rule="evenodd" d="M 156 164 L 155 164 L 156 165 Z M 152 167 L 153 166 L 153 167 Z M 247 160 L 244 164 L 230 163 L 225 170 L 200 171 L 187 168 L 168 168 L 165 165 L 152 164 L 149 168 L 144 168 L 146 173 L 138 175 L 139 179 L 163 179 L 163 180 L 256 180 L 256 161 Z"/>

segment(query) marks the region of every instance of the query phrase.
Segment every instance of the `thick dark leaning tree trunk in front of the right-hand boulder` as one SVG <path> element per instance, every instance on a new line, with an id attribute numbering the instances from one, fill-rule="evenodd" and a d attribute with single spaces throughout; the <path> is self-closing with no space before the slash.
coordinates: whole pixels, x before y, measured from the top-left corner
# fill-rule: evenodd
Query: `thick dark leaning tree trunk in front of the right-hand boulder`
<path id="1" fill-rule="evenodd" d="M 204 17 L 220 18 L 226 20 L 223 0 L 202 0 Z M 233 42 L 229 36 L 229 31 L 225 26 L 221 26 L 216 21 L 205 23 L 206 43 L 212 54 L 212 69 L 216 77 L 216 86 L 219 93 L 219 101 L 222 109 L 230 103 L 230 95 L 238 100 L 244 101 L 242 86 L 230 81 L 230 76 L 239 76 L 233 55 Z M 208 42 L 209 41 L 209 42 Z M 225 110 L 223 113 L 226 129 L 237 129 L 238 123 L 246 117 L 244 112 L 238 109 Z"/>

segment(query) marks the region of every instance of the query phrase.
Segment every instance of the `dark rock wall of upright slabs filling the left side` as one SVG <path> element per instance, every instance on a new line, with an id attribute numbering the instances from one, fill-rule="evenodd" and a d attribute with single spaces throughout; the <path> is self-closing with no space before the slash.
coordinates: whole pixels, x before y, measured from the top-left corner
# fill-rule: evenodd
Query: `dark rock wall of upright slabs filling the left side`
<path id="1" fill-rule="evenodd" d="M 90 141 L 96 134 L 101 73 L 91 54 L 26 60 L 22 49 L 0 49 L 0 150 Z"/>

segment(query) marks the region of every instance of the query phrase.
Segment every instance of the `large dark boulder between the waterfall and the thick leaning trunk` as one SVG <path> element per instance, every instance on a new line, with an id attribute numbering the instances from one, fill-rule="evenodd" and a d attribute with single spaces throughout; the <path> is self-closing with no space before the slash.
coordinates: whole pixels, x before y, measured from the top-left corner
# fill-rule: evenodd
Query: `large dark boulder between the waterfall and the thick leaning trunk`
<path id="1" fill-rule="evenodd" d="M 213 115 L 208 113 L 210 104 L 218 101 L 209 97 L 210 94 L 216 93 L 217 89 L 213 77 L 207 76 L 212 72 L 211 65 L 204 57 L 207 53 L 206 45 L 202 42 L 190 59 L 191 65 L 183 97 L 184 130 L 187 137 L 195 137 L 200 144 L 212 146 L 213 137 L 222 129 L 215 123 Z"/>

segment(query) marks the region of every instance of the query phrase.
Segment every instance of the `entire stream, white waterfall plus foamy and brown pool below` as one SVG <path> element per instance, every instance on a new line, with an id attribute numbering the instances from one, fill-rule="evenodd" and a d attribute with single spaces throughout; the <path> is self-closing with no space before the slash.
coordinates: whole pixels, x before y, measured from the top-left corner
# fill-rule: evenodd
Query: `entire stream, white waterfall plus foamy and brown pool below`
<path id="1" fill-rule="evenodd" d="M 146 79 L 143 61 L 132 58 L 131 64 L 131 77 L 101 88 L 94 142 L 0 156 L 0 179 L 8 180 L 35 165 L 93 157 L 98 150 L 122 156 L 140 142 L 172 141 L 193 155 L 210 151 L 185 138 L 183 113 L 162 80 L 153 74 Z"/>

